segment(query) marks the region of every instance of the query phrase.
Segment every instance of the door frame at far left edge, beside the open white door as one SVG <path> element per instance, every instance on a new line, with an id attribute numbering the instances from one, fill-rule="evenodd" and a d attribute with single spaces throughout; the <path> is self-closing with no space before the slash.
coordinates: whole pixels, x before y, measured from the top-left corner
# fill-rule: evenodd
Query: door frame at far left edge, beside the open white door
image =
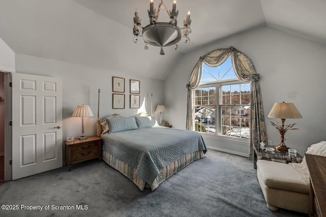
<path id="1" fill-rule="evenodd" d="M 8 69 L 0 66 L 0 72 L 5 73 L 5 181 L 12 180 L 12 166 L 9 164 L 12 160 L 12 127 L 9 122 L 12 119 L 12 89 L 9 83 L 12 82 L 12 73 L 16 73 L 14 69 Z"/>

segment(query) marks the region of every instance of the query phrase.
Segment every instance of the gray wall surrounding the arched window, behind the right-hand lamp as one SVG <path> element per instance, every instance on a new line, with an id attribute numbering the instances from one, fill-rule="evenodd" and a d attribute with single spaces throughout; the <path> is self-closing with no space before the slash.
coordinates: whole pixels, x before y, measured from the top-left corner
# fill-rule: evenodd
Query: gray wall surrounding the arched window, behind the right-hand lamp
<path id="1" fill-rule="evenodd" d="M 261 75 L 260 85 L 268 140 L 277 145 L 279 132 L 270 125 L 267 115 L 275 102 L 293 102 L 303 119 L 288 119 L 286 124 L 297 123 L 298 130 L 285 134 L 288 147 L 304 154 L 311 144 L 326 140 L 326 45 L 285 33 L 268 26 L 243 32 L 216 41 L 182 57 L 175 70 L 167 77 L 165 86 L 166 119 L 174 127 L 185 129 L 186 96 L 191 71 L 200 56 L 234 46 L 246 53 Z M 246 155 L 248 143 L 204 137 L 209 147 Z"/>

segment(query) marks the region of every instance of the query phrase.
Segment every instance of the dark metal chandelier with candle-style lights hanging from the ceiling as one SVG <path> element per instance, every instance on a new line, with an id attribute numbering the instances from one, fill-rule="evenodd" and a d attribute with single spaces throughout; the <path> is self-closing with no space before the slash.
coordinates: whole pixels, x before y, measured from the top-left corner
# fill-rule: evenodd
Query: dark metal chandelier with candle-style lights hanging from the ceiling
<path id="1" fill-rule="evenodd" d="M 142 19 L 139 17 L 137 9 L 135 9 L 133 18 L 133 42 L 138 43 L 138 37 L 142 36 L 145 42 L 145 50 L 148 50 L 148 44 L 160 47 L 160 55 L 165 55 L 163 47 L 171 46 L 175 44 L 175 49 L 178 49 L 178 42 L 181 37 L 185 37 L 185 43 L 188 44 L 190 39 L 188 35 L 191 34 L 190 24 L 190 11 L 186 15 L 186 19 L 183 20 L 183 28 L 177 26 L 177 16 L 179 11 L 176 10 L 176 1 L 172 4 L 172 11 L 168 11 L 167 6 L 161 0 L 158 5 L 158 9 L 154 8 L 153 0 L 149 4 L 148 17 L 150 24 L 142 27 Z M 171 19 L 170 22 L 158 22 L 158 16 L 160 9 L 165 9 Z"/>

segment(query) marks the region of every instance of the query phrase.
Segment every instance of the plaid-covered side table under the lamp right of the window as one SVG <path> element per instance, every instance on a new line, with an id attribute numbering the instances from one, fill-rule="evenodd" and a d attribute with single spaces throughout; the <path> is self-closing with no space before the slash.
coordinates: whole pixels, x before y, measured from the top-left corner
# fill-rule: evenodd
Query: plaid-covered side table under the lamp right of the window
<path id="1" fill-rule="evenodd" d="M 275 149 L 273 152 L 266 152 L 265 150 L 261 150 L 259 147 L 259 144 L 253 145 L 253 158 L 254 158 L 254 169 L 257 169 L 257 160 L 259 159 L 264 159 L 264 160 L 275 160 L 275 161 L 284 161 L 286 164 L 288 164 L 290 161 L 288 152 L 279 152 L 276 150 L 276 146 L 267 146 L 267 147 L 272 147 Z M 296 158 L 295 161 L 297 163 L 301 163 L 303 159 L 303 156 L 300 154 L 296 153 Z"/>

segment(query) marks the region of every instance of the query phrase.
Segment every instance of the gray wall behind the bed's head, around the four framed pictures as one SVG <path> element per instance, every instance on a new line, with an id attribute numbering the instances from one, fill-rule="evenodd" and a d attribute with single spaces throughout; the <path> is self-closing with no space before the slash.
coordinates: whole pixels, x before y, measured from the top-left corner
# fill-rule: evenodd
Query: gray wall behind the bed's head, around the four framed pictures
<path id="1" fill-rule="evenodd" d="M 127 64 L 127 63 L 126 63 Z M 94 117 L 85 118 L 85 134 L 96 134 L 98 89 L 100 94 L 100 120 L 115 113 L 123 116 L 137 114 L 137 109 L 129 108 L 129 79 L 141 82 L 141 104 L 144 102 L 150 114 L 150 95 L 153 93 L 153 114 L 157 104 L 164 102 L 163 82 L 132 74 L 87 67 L 50 59 L 16 54 L 16 72 L 50 77 L 58 77 L 63 82 L 63 139 L 77 138 L 82 134 L 82 121 L 71 117 L 78 104 L 90 105 Z M 112 109 L 112 76 L 125 78 L 125 109 Z M 158 118 L 157 114 L 154 114 Z"/>

